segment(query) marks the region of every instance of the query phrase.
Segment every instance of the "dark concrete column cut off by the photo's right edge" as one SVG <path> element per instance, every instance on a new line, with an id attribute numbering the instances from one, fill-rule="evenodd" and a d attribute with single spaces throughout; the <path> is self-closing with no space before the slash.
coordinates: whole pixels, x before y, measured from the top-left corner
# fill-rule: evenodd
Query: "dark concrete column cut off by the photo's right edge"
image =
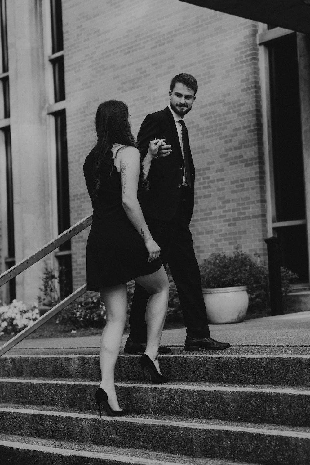
<path id="1" fill-rule="evenodd" d="M 303 167 L 308 235 L 308 265 L 310 264 L 310 36 L 297 33 L 299 92 L 303 138 Z M 310 276 L 310 270 L 309 270 Z"/>

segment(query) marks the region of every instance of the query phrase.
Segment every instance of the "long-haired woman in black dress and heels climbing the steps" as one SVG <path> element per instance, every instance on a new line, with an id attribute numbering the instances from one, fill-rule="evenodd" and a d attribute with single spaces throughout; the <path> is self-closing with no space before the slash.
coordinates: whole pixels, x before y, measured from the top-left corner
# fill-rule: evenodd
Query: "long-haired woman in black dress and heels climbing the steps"
<path id="1" fill-rule="evenodd" d="M 138 196 L 149 188 L 143 159 L 131 133 L 125 103 L 109 100 L 96 113 L 98 140 L 86 157 L 84 176 L 92 200 L 92 226 L 87 239 L 87 290 L 99 291 L 106 307 L 106 326 L 100 340 L 101 384 L 95 394 L 107 415 L 129 413 L 120 409 L 114 386 L 114 368 L 127 313 L 126 282 L 134 279 L 151 294 L 146 309 L 147 345 L 140 359 L 153 383 L 168 379 L 160 373 L 158 347 L 168 304 L 169 284 L 159 259 L 160 248 L 145 223 Z M 158 152 L 162 140 L 150 142 Z"/>

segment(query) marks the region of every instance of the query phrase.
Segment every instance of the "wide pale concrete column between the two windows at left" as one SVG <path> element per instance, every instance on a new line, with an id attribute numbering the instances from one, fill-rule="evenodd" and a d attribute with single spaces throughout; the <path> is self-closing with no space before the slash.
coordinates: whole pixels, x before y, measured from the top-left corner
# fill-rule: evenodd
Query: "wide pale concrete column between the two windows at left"
<path id="1" fill-rule="evenodd" d="M 49 239 L 46 91 L 41 2 L 7 1 L 16 263 Z M 17 299 L 32 304 L 44 263 L 16 279 Z"/>

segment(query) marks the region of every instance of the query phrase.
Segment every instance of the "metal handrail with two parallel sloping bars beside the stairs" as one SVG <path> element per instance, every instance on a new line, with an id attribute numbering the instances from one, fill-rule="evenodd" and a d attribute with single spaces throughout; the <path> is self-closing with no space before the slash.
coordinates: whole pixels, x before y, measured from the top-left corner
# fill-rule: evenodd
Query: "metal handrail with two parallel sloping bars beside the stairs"
<path id="1" fill-rule="evenodd" d="M 69 229 L 64 231 L 63 233 L 59 234 L 56 239 L 51 240 L 45 246 L 41 247 L 37 252 L 34 252 L 32 255 L 27 257 L 26 259 L 21 260 L 17 265 L 12 266 L 9 270 L 2 273 L 0 275 L 0 287 L 3 286 L 7 281 L 14 278 L 29 266 L 32 266 L 34 263 L 45 257 L 48 253 L 53 252 L 57 247 L 61 244 L 66 242 L 68 239 L 79 234 L 81 231 L 87 228 L 92 224 L 92 215 L 86 216 L 84 219 L 76 223 L 75 225 L 71 226 Z M 5 354 L 8 350 L 12 349 L 16 344 L 20 341 L 25 339 L 29 334 L 35 331 L 40 326 L 44 325 L 46 321 L 51 319 L 54 315 L 61 312 L 67 305 L 74 302 L 74 300 L 78 299 L 81 295 L 86 292 L 86 284 L 79 287 L 76 291 L 72 292 L 66 299 L 63 299 L 59 304 L 55 305 L 51 310 L 46 312 L 37 320 L 33 321 L 31 325 L 27 326 L 23 331 L 19 332 L 14 336 L 12 339 L 7 341 L 4 345 L 0 347 L 0 356 Z"/>

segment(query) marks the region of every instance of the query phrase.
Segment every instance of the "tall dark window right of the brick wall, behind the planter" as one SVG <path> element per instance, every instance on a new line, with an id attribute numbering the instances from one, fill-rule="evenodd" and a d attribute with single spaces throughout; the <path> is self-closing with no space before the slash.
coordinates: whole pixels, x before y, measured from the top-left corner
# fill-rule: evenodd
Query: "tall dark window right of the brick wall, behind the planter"
<path id="1" fill-rule="evenodd" d="M 264 34 L 261 34 L 262 36 Z M 282 265 L 309 282 L 296 33 L 270 28 L 268 54 L 271 226 Z"/>

